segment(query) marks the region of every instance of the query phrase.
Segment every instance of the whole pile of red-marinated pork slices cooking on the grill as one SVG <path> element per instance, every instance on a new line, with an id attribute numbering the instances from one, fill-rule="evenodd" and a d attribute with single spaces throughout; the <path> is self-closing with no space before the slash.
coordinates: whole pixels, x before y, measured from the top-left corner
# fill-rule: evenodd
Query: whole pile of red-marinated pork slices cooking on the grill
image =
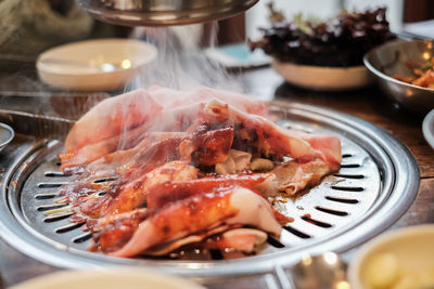
<path id="1" fill-rule="evenodd" d="M 107 98 L 72 128 L 61 187 L 91 251 L 167 255 L 181 246 L 254 253 L 291 219 L 280 195 L 341 166 L 341 143 L 278 127 L 267 105 L 203 88 L 153 87 Z"/>

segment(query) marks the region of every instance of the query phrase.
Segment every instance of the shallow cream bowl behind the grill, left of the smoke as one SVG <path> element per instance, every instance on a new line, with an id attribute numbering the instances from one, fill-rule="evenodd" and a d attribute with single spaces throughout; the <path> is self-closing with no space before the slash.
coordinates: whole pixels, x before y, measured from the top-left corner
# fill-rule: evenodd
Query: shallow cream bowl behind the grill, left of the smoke
<path id="1" fill-rule="evenodd" d="M 56 88 L 112 91 L 124 88 L 156 53 L 155 47 L 139 40 L 88 40 L 43 52 L 36 67 L 39 78 Z"/>

